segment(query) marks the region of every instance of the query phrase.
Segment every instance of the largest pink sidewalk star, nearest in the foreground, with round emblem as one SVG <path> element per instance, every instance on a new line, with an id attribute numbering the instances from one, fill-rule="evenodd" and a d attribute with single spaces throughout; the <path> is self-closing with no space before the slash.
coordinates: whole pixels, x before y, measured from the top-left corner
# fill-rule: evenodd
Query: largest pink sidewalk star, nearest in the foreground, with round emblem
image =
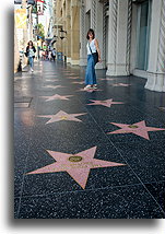
<path id="1" fill-rule="evenodd" d="M 30 172 L 27 175 L 67 172 L 83 189 L 85 189 L 91 168 L 126 165 L 94 159 L 96 147 L 76 154 L 68 154 L 50 150 L 47 150 L 47 152 L 56 160 L 56 162 L 36 171 Z"/>

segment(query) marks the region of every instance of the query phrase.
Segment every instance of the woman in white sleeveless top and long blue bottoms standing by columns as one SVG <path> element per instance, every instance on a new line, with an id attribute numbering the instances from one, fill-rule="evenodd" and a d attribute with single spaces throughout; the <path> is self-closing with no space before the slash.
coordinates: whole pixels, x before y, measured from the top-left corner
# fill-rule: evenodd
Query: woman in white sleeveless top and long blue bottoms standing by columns
<path id="1" fill-rule="evenodd" d="M 89 30 L 87 35 L 87 68 L 85 73 L 84 90 L 97 89 L 96 73 L 95 73 L 95 60 L 92 54 L 98 52 L 98 61 L 101 61 L 101 51 L 98 47 L 98 40 L 95 38 L 95 33 L 92 28 Z"/>

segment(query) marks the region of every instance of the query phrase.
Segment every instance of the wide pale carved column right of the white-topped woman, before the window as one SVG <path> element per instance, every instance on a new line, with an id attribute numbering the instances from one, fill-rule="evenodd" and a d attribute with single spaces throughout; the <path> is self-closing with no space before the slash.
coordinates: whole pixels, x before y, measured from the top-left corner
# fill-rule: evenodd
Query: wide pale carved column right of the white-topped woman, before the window
<path id="1" fill-rule="evenodd" d="M 130 63 L 131 1 L 109 0 L 107 75 L 128 75 Z"/>

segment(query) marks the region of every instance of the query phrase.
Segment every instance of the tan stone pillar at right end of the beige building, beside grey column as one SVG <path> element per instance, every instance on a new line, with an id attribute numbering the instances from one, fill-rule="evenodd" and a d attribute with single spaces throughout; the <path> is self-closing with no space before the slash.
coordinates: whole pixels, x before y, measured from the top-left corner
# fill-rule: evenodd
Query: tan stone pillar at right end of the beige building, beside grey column
<path id="1" fill-rule="evenodd" d="M 80 63 L 80 1 L 71 0 L 71 65 Z"/>

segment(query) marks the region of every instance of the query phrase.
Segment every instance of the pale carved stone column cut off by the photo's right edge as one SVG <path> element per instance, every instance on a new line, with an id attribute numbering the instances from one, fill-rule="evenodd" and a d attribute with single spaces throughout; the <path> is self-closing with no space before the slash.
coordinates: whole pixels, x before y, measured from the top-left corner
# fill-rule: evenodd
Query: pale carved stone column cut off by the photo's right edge
<path id="1" fill-rule="evenodd" d="M 165 92 L 165 0 L 152 2 L 150 58 L 145 89 Z"/>

